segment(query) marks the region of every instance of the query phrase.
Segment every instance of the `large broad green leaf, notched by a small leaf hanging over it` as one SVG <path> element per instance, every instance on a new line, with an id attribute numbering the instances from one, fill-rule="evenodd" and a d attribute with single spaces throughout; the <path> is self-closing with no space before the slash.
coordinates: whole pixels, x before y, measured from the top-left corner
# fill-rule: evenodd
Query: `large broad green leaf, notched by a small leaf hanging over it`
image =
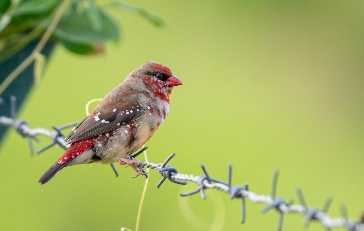
<path id="1" fill-rule="evenodd" d="M 60 20 L 53 35 L 61 41 L 82 45 L 119 41 L 118 24 L 103 11 L 100 11 L 100 17 L 101 29 L 95 31 L 84 14 L 72 12 Z"/>

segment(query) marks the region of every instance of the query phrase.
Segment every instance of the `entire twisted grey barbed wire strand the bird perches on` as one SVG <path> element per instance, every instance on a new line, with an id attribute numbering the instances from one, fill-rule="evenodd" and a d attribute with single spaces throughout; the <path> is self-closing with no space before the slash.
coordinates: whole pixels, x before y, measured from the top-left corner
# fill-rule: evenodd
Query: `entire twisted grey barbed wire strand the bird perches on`
<path id="1" fill-rule="evenodd" d="M 15 106 L 16 98 L 11 97 L 11 118 L 6 116 L 0 116 L 0 125 L 3 126 L 12 126 L 21 136 L 27 137 L 29 140 L 29 146 L 31 149 L 31 154 L 34 153 L 33 140 L 39 141 L 37 135 L 43 135 L 52 139 L 52 142 L 37 151 L 37 153 L 41 153 L 48 148 L 59 145 L 64 149 L 67 149 L 66 142 L 64 141 L 64 134 L 62 133 L 62 129 L 67 127 L 75 126 L 78 122 L 66 124 L 60 127 L 56 127 L 52 125 L 54 131 L 47 130 L 46 128 L 33 128 L 31 129 L 27 122 L 21 119 L 15 119 Z M 148 147 L 144 147 L 139 150 L 137 153 L 128 156 L 129 159 L 134 159 L 139 154 L 141 154 Z M 327 214 L 327 210 L 332 201 L 331 197 L 327 197 L 324 202 L 323 208 L 318 209 L 316 207 L 308 207 L 306 205 L 302 190 L 300 188 L 296 188 L 298 199 L 300 200 L 300 204 L 292 204 L 293 200 L 286 201 L 283 197 L 276 196 L 276 188 L 277 188 L 277 179 L 279 170 L 275 170 L 273 174 L 272 180 L 272 189 L 270 195 L 260 195 L 255 192 L 249 191 L 248 183 L 244 185 L 232 185 L 232 164 L 229 164 L 228 168 L 228 180 L 227 182 L 218 180 L 216 178 L 212 178 L 204 165 L 201 165 L 202 170 L 204 172 L 203 175 L 194 176 L 192 174 L 182 174 L 178 173 L 177 169 L 171 165 L 167 165 L 167 163 L 175 156 L 175 154 L 171 154 L 163 163 L 152 163 L 147 161 L 141 161 L 139 163 L 134 163 L 134 166 L 137 168 L 141 168 L 143 173 L 146 173 L 145 168 L 155 169 L 159 174 L 162 175 L 161 181 L 158 182 L 157 188 L 159 188 L 163 182 L 168 179 L 171 182 L 185 185 L 186 181 L 194 182 L 198 185 L 198 189 L 195 189 L 191 192 L 181 193 L 181 196 L 190 196 L 195 193 L 200 193 L 202 199 L 206 198 L 205 190 L 206 189 L 218 189 L 225 193 L 229 193 L 230 199 L 241 199 L 242 200 L 242 211 L 241 211 L 241 222 L 245 222 L 246 215 L 246 203 L 245 198 L 254 202 L 254 203 L 263 203 L 266 204 L 265 207 L 261 209 L 261 212 L 264 213 L 270 209 L 275 209 L 279 213 L 278 217 L 278 225 L 277 230 L 282 230 L 283 223 L 283 215 L 284 213 L 299 213 L 304 215 L 304 226 L 308 227 L 309 223 L 312 220 L 317 220 L 325 228 L 331 230 L 336 227 L 345 227 L 348 231 L 364 231 L 364 214 L 361 216 L 360 221 L 353 221 L 348 219 L 347 209 L 345 206 L 341 207 L 341 216 L 340 217 L 331 217 Z M 118 176 L 118 171 L 116 170 L 114 164 L 111 164 L 112 169 L 114 170 L 116 177 Z M 148 177 L 148 175 L 146 175 Z"/>

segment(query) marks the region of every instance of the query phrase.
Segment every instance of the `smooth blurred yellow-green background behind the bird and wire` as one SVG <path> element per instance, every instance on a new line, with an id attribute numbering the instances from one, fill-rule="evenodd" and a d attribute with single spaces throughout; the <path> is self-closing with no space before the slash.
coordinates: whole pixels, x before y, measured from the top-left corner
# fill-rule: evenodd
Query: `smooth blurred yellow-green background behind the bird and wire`
<path id="1" fill-rule="evenodd" d="M 104 3 L 99 1 L 99 3 Z M 106 1 L 105 1 L 106 3 Z M 364 2 L 354 1 L 128 1 L 162 16 L 151 26 L 139 16 L 111 11 L 122 24 L 122 41 L 106 53 L 82 57 L 56 46 L 43 80 L 18 115 L 31 127 L 51 128 L 82 120 L 85 104 L 102 98 L 145 61 L 168 66 L 183 82 L 171 95 L 170 115 L 147 142 L 149 160 L 170 162 L 179 172 L 249 182 L 269 194 L 280 168 L 277 195 L 349 217 L 364 209 Z M 67 133 L 67 131 L 65 132 Z M 42 138 L 36 148 L 50 142 Z M 145 178 L 130 168 L 80 165 L 36 184 L 62 154 L 52 148 L 29 155 L 14 130 L 0 149 L 1 230 L 135 230 Z M 276 230 L 277 213 L 261 214 L 240 200 L 165 182 L 150 173 L 140 230 Z M 303 217 L 289 214 L 284 230 L 303 230 Z M 309 230 L 324 230 L 312 222 Z M 340 230 L 340 229 L 339 229 Z"/>

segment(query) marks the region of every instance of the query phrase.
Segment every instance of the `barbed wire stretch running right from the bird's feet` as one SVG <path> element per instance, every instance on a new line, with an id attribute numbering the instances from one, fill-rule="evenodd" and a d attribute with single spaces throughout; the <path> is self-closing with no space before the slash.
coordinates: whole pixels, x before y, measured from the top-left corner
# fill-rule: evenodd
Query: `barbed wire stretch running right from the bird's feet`
<path id="1" fill-rule="evenodd" d="M 182 193 L 181 196 L 190 196 L 195 193 L 200 192 L 202 199 L 206 198 L 205 190 L 210 188 L 215 188 L 221 190 L 225 193 L 229 193 L 231 199 L 240 198 L 242 199 L 242 218 L 241 222 L 245 222 L 245 198 L 254 202 L 254 203 L 263 203 L 266 204 L 264 208 L 262 208 L 262 212 L 266 212 L 269 209 L 275 209 L 280 215 L 278 218 L 278 226 L 277 230 L 282 229 L 283 223 L 283 215 L 284 213 L 299 213 L 305 216 L 304 226 L 307 227 L 311 220 L 317 220 L 323 226 L 331 230 L 336 227 L 345 227 L 348 231 L 364 231 L 364 214 L 360 217 L 359 222 L 353 222 L 349 220 L 347 217 L 346 207 L 342 207 L 342 216 L 341 217 L 331 217 L 327 214 L 328 207 L 332 201 L 331 197 L 327 197 L 324 201 L 323 209 L 317 209 L 314 207 L 308 207 L 303 197 L 303 193 L 300 188 L 296 189 L 298 199 L 300 200 L 300 204 L 293 204 L 293 200 L 289 200 L 286 202 L 282 197 L 276 196 L 277 189 L 277 179 L 279 170 L 275 170 L 273 174 L 272 180 L 272 189 L 271 194 L 269 195 L 259 195 L 255 192 L 249 191 L 248 183 L 244 183 L 244 185 L 232 185 L 232 165 L 229 164 L 229 172 L 228 172 L 228 180 L 227 182 L 212 178 L 210 174 L 207 172 L 207 169 L 204 165 L 201 165 L 203 170 L 203 175 L 201 176 L 193 176 L 188 174 L 178 173 L 177 169 L 172 167 L 171 165 L 166 166 L 166 164 L 173 158 L 175 154 L 171 154 L 163 163 L 151 163 L 146 161 L 141 161 L 139 163 L 134 163 L 137 168 L 151 168 L 155 169 L 159 174 L 163 176 L 162 180 L 157 184 L 157 188 L 159 188 L 162 183 L 168 179 L 171 182 L 175 182 L 177 184 L 187 184 L 186 181 L 195 182 L 198 185 L 198 188 L 187 193 Z"/>

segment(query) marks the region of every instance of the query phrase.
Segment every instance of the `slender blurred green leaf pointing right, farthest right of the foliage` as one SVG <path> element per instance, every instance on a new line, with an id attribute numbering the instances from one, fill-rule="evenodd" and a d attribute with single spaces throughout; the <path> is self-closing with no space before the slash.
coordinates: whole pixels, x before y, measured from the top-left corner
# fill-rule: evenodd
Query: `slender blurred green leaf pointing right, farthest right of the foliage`
<path id="1" fill-rule="evenodd" d="M 147 19 L 149 22 L 153 23 L 155 26 L 158 27 L 166 26 L 165 21 L 160 16 L 155 15 L 142 7 L 138 7 L 136 5 L 130 5 L 127 3 L 123 3 L 121 1 L 115 1 L 111 5 L 115 5 L 122 11 L 138 14 L 143 18 Z"/>

